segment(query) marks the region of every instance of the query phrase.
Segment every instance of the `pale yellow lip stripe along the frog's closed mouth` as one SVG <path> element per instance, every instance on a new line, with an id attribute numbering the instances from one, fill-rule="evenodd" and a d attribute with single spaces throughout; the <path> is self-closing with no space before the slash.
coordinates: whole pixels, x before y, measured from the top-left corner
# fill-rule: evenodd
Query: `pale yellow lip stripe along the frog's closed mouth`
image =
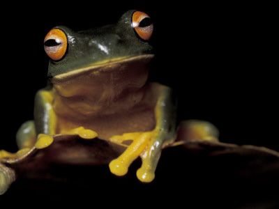
<path id="1" fill-rule="evenodd" d="M 94 63 L 93 65 L 86 66 L 84 68 L 79 68 L 77 70 L 71 70 L 70 72 L 65 72 L 60 75 L 56 75 L 52 78 L 52 82 L 62 82 L 66 80 L 73 79 L 77 76 L 80 76 L 82 74 L 86 74 L 87 72 L 92 71 L 111 71 L 117 68 L 120 65 L 125 65 L 128 63 L 133 63 L 136 61 L 141 61 L 145 63 L 149 63 L 151 59 L 153 59 L 154 54 L 144 54 L 139 56 L 126 56 L 116 59 L 110 59 L 109 61 L 103 61 Z"/>

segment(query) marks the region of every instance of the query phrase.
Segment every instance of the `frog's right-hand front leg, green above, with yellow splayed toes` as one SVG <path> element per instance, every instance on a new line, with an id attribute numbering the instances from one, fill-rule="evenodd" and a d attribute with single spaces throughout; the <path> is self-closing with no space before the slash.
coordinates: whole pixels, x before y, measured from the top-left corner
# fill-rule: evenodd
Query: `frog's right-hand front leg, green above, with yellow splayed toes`
<path id="1" fill-rule="evenodd" d="M 142 158 L 142 167 L 137 170 L 137 178 L 142 182 L 151 182 L 160 158 L 162 147 L 171 143 L 176 130 L 176 101 L 170 88 L 164 87 L 156 104 L 156 127 L 150 132 L 126 133 L 112 137 L 111 141 L 132 139 L 133 143 L 116 160 L 110 162 L 110 171 L 117 176 L 127 173 L 130 164 Z"/>

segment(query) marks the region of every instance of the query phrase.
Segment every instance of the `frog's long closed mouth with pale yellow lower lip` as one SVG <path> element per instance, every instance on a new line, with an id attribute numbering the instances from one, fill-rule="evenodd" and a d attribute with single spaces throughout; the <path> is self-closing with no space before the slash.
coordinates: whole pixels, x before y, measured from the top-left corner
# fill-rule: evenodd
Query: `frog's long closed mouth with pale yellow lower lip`
<path id="1" fill-rule="evenodd" d="M 130 68 L 135 68 L 135 66 L 145 66 L 151 59 L 153 59 L 154 54 L 144 54 L 139 56 L 126 56 L 116 59 L 110 59 L 109 61 L 103 61 L 94 63 L 93 65 L 85 66 L 76 70 L 71 70 L 70 72 L 65 72 L 60 75 L 56 75 L 52 78 L 53 83 L 67 82 L 68 80 L 75 79 L 81 75 L 98 75 L 101 72 L 113 72 L 121 70 L 133 70 Z M 137 68 L 137 67 L 136 67 Z"/>

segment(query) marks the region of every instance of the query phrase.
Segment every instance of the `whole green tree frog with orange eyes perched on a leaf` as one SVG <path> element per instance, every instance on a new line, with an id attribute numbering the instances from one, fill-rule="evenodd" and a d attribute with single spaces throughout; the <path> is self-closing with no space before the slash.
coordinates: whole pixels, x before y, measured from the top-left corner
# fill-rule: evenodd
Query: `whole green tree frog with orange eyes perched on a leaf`
<path id="1" fill-rule="evenodd" d="M 84 31 L 52 28 L 44 39 L 49 82 L 35 95 L 33 120 L 17 131 L 19 151 L 1 150 L 0 163 L 32 148 L 51 148 L 55 136 L 74 134 L 125 147 L 108 164 L 110 172 L 125 176 L 140 157 L 136 176 L 151 183 L 163 148 L 181 141 L 218 141 L 218 130 L 209 122 L 178 124 L 175 92 L 149 82 L 153 29 L 151 17 L 141 10 L 128 10 L 116 24 Z M 0 187 L 13 179 L 7 173 L 8 168 L 0 167 Z"/>

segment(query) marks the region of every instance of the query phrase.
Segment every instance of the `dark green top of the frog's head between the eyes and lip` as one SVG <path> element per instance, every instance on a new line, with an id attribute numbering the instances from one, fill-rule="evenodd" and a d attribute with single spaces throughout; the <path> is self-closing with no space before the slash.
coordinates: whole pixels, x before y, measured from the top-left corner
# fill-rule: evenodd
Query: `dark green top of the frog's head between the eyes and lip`
<path id="1" fill-rule="evenodd" d="M 68 53 L 61 61 L 50 61 L 48 77 L 76 70 L 86 65 L 123 56 L 153 54 L 149 42 L 137 37 L 131 26 L 134 10 L 125 13 L 116 24 L 74 32 L 65 26 L 62 29 L 68 36 Z M 98 45 L 105 49 L 100 50 Z"/>

